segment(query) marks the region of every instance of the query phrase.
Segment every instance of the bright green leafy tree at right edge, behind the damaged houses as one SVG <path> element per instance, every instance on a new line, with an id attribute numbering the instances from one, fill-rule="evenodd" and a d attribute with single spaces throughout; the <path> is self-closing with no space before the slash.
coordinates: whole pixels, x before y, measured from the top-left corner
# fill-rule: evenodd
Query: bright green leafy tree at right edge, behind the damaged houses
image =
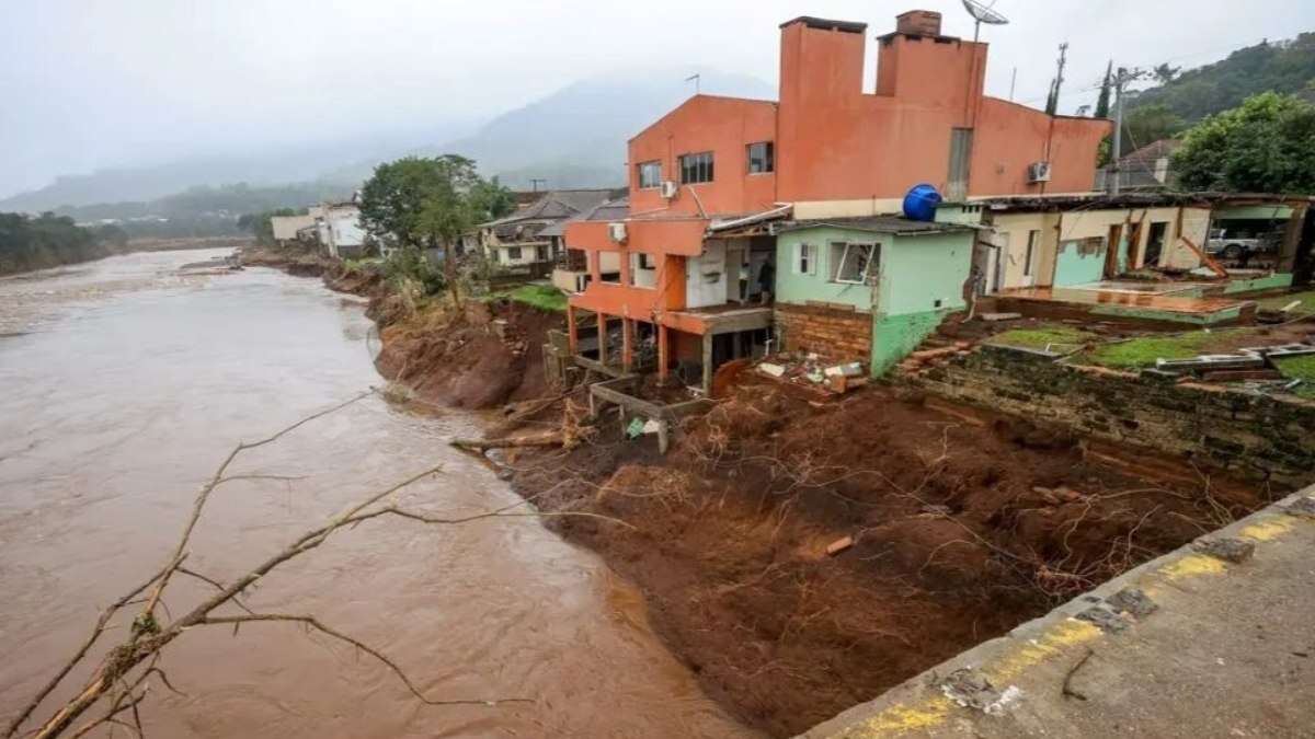
<path id="1" fill-rule="evenodd" d="M 1193 126 L 1173 155 L 1186 189 L 1315 193 L 1315 105 L 1264 92 Z"/>

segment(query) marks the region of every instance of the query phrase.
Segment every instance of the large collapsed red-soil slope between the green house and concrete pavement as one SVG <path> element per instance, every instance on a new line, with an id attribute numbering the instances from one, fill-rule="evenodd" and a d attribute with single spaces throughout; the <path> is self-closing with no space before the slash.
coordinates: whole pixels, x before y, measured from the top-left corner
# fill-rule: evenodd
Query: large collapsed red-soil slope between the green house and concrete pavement
<path id="1" fill-rule="evenodd" d="M 1220 479 L 1132 477 L 1064 434 L 886 388 L 810 404 L 740 387 L 665 459 L 614 426 L 518 460 L 517 489 L 633 526 L 550 519 L 639 585 L 711 697 L 776 736 L 1268 502 Z"/>

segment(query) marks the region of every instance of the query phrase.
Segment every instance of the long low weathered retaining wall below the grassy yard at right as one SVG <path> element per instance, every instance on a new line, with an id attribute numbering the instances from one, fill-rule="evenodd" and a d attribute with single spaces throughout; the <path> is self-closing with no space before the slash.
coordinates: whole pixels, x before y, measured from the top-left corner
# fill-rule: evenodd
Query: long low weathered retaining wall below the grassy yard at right
<path id="1" fill-rule="evenodd" d="M 1066 367 L 1048 355 L 990 346 L 905 381 L 948 400 L 1185 455 L 1249 479 L 1315 483 L 1315 401 Z"/>

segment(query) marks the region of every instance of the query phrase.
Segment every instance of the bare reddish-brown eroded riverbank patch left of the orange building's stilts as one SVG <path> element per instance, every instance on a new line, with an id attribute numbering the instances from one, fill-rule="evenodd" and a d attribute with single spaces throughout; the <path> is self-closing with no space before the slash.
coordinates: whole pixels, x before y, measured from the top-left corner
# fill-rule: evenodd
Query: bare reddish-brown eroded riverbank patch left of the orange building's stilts
<path id="1" fill-rule="evenodd" d="M 387 300 L 387 298 L 385 298 Z M 542 346 L 560 314 L 514 301 L 468 301 L 462 312 L 434 308 L 380 321 L 379 372 L 430 404 L 494 408 L 546 392 Z"/>

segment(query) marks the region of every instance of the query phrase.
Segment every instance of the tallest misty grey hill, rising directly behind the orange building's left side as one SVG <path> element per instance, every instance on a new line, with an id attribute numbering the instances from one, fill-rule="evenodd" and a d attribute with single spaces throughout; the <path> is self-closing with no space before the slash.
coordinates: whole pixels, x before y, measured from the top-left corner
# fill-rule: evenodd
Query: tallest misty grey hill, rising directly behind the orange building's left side
<path id="1" fill-rule="evenodd" d="M 509 110 L 467 138 L 417 154 L 462 154 L 484 175 L 513 189 L 531 179 L 550 188 L 614 187 L 626 181 L 626 142 L 694 92 L 689 70 L 630 70 L 585 79 Z M 751 76 L 700 71 L 700 89 L 775 100 L 776 88 Z M 360 181 L 377 162 L 326 172 L 330 181 Z"/>

